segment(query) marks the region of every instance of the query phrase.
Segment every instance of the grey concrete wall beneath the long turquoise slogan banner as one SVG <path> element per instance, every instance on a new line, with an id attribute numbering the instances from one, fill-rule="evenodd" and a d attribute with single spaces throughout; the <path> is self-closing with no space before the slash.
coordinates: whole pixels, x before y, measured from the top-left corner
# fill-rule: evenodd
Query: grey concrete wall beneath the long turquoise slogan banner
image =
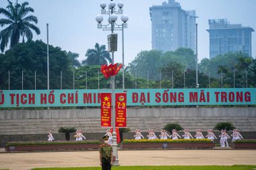
<path id="1" fill-rule="evenodd" d="M 256 132 L 256 108 L 127 109 L 127 127 L 132 132 L 136 128 L 142 132 L 148 132 L 150 128 L 159 131 L 168 123 L 179 123 L 191 131 L 197 128 L 206 131 L 214 128 L 218 122 L 232 122 L 242 132 Z M 11 140 L 46 140 L 49 130 L 53 131 L 57 140 L 63 140 L 64 135 L 57 135 L 62 126 L 82 129 L 92 139 L 100 138 L 106 132 L 106 128 L 100 127 L 100 109 L 1 110 L 0 142 L 3 144 Z M 129 135 L 132 137 L 132 134 Z"/>

